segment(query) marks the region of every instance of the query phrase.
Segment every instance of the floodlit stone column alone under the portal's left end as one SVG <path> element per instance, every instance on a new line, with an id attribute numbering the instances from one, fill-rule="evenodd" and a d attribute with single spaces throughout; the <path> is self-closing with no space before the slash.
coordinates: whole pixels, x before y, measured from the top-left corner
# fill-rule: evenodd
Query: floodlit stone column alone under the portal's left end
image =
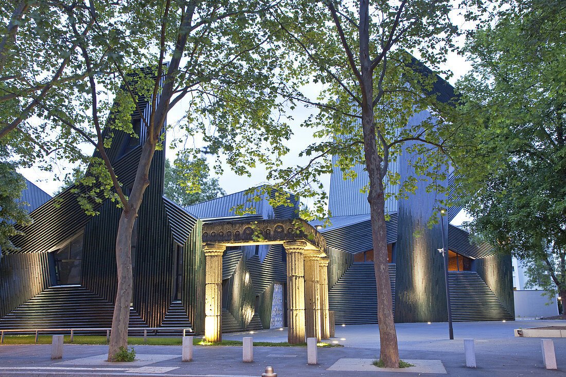
<path id="1" fill-rule="evenodd" d="M 203 251 L 206 256 L 204 296 L 204 339 L 222 341 L 222 254 L 226 246 L 208 243 Z"/>

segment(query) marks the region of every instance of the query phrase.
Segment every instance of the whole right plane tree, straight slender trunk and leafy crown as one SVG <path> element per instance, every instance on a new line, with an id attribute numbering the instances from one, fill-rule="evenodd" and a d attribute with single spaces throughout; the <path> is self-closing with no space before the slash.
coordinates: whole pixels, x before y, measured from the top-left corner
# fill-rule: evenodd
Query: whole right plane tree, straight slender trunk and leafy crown
<path id="1" fill-rule="evenodd" d="M 449 20 L 450 10 L 448 1 L 281 2 L 265 20 L 281 45 L 279 72 L 286 90 L 275 95 L 287 98 L 291 110 L 298 102 L 320 110 L 303 125 L 314 128 L 318 139 L 302 153 L 311 157 L 308 164 L 268 166 L 267 178 L 276 181 L 275 188 L 314 196 L 315 211 L 323 212 L 326 196 L 319 177 L 332 172 L 331 155 L 340 156 L 346 173 L 358 162 L 367 166 L 380 357 L 387 367 L 398 367 L 399 358 L 387 272 L 384 181 L 399 183 L 403 193 L 414 190 L 417 178 L 399 182 L 398 175 L 388 175 L 389 162 L 406 148 L 430 157 L 415 161 L 417 174 L 427 175 L 430 190 L 446 192 L 439 184 L 446 178 L 440 166 L 448 164 L 444 154 L 456 149 L 447 142 L 449 131 L 444 123 L 449 122 L 444 114 L 451 114 L 455 107 L 436 98 L 432 87 L 438 78 L 423 64 L 435 66 L 444 61 L 453 47 L 451 38 L 457 29 Z M 419 52 L 422 63 L 408 53 L 413 51 Z M 323 84 L 319 98 L 303 95 L 301 88 L 316 83 Z M 431 116 L 421 125 L 408 125 L 412 114 L 426 110 L 431 110 Z M 222 136 L 215 139 L 224 145 L 229 162 L 238 161 L 243 152 Z M 286 203 L 284 190 L 271 192 L 278 194 L 272 204 Z"/>

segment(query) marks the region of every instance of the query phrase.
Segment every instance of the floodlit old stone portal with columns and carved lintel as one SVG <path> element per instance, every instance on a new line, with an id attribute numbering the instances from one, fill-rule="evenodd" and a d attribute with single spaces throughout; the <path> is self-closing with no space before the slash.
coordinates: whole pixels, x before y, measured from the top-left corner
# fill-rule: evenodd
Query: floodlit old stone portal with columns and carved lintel
<path id="1" fill-rule="evenodd" d="M 222 297 L 221 282 L 217 281 L 218 276 L 222 276 L 219 252 L 226 246 L 265 244 L 282 244 L 286 251 L 289 343 L 305 342 L 306 335 L 317 339 L 328 336 L 324 331 L 329 328 L 328 315 L 324 315 L 328 284 L 324 284 L 326 276 L 320 277 L 328 273 L 328 263 L 325 262 L 328 259 L 324 258 L 326 241 L 308 222 L 301 219 L 208 222 L 203 224 L 202 242 L 208 278 L 206 340 L 222 339 L 218 320 L 218 303 Z M 327 292 L 321 292 L 323 289 Z"/>

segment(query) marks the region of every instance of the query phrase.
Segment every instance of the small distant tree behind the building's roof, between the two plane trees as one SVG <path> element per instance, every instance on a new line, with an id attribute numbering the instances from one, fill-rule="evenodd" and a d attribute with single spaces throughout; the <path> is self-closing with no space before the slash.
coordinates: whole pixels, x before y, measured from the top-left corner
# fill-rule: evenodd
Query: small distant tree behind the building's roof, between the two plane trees
<path id="1" fill-rule="evenodd" d="M 226 195 L 218 186 L 218 178 L 208 177 L 209 170 L 204 157 L 191 159 L 182 155 L 175 159 L 173 166 L 165 160 L 165 196 L 187 207 Z"/>

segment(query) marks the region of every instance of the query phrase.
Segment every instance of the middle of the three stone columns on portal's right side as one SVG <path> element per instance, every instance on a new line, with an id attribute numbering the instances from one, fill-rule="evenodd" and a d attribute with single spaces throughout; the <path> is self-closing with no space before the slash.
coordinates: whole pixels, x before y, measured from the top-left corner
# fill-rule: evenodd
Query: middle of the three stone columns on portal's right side
<path id="1" fill-rule="evenodd" d="M 320 254 L 305 255 L 305 319 L 307 338 L 320 341 Z"/>

